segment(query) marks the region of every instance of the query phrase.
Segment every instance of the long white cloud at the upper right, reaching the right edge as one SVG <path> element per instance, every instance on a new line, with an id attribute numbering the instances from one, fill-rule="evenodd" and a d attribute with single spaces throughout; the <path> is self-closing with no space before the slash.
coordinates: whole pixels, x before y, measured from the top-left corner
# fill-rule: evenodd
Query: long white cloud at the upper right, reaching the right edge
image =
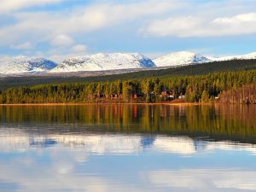
<path id="1" fill-rule="evenodd" d="M 253 34 L 256 33 L 256 13 L 218 18 L 212 18 L 211 15 L 170 17 L 151 21 L 143 32 L 181 38 Z"/>

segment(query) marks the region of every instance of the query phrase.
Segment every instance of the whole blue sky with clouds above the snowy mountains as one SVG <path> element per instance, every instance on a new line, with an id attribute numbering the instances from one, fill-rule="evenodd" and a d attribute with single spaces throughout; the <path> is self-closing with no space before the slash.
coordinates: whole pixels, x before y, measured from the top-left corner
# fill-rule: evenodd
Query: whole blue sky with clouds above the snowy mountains
<path id="1" fill-rule="evenodd" d="M 0 0 L 0 56 L 256 51 L 254 0 Z"/>

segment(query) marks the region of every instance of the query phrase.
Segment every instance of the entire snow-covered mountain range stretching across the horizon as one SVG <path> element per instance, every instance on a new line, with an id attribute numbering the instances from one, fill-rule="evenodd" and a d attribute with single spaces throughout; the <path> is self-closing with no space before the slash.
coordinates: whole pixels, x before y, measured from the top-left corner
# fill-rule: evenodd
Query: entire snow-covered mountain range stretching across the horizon
<path id="1" fill-rule="evenodd" d="M 0 74 L 14 75 L 20 73 L 70 73 L 96 72 L 124 69 L 145 69 L 156 67 L 178 67 L 201 64 L 211 61 L 256 59 L 256 52 L 247 55 L 232 55 L 215 57 L 181 51 L 160 56 L 154 60 L 138 53 L 112 53 L 84 55 L 67 58 L 57 64 L 44 58 L 29 58 L 26 56 L 4 57 L 0 59 Z"/>

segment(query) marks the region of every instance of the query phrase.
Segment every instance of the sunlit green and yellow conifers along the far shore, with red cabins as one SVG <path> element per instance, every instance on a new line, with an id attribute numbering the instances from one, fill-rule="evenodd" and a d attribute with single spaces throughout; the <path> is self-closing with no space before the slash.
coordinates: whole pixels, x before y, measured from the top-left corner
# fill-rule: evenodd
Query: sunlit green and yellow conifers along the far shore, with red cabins
<path id="1" fill-rule="evenodd" d="M 0 103 L 165 102 L 179 96 L 212 102 L 219 93 L 246 84 L 256 84 L 256 70 L 11 88 L 0 90 Z"/>

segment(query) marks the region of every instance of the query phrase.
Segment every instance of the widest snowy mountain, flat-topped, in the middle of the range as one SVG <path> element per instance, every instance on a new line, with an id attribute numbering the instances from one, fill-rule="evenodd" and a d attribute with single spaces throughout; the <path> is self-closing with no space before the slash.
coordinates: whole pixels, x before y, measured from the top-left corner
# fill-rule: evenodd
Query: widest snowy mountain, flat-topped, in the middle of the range
<path id="1" fill-rule="evenodd" d="M 104 71 L 156 67 L 154 62 L 137 53 L 96 54 L 72 57 L 62 61 L 50 73 Z"/>

